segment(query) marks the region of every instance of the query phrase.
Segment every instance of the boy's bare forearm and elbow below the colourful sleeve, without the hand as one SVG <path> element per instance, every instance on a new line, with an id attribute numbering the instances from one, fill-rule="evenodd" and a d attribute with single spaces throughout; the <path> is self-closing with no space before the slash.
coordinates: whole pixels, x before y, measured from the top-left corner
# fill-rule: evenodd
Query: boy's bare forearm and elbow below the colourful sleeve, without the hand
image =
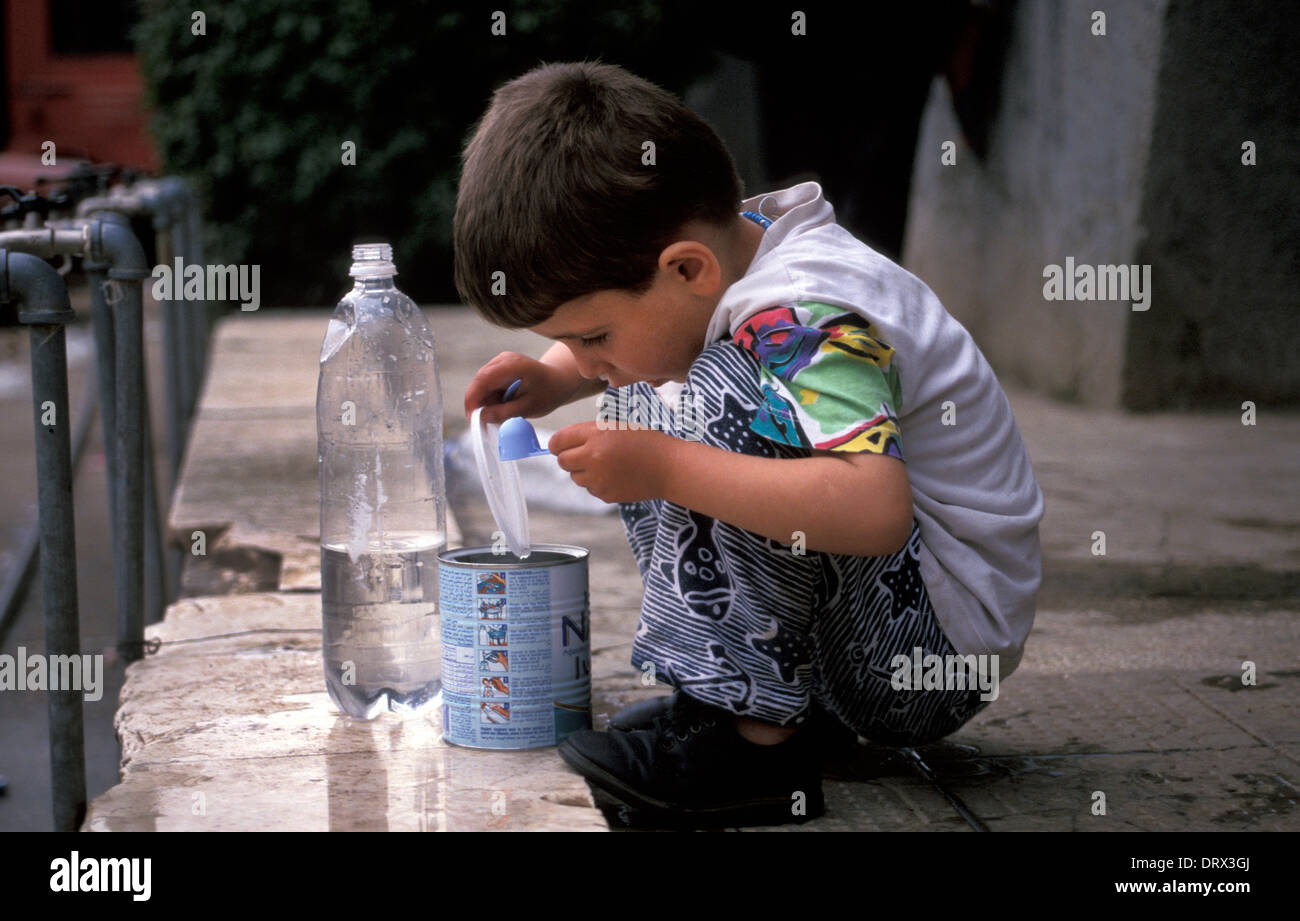
<path id="1" fill-rule="evenodd" d="M 780 544 L 800 531 L 807 550 L 878 557 L 911 533 L 911 487 L 898 458 L 759 458 L 671 437 L 660 447 L 663 498 Z"/>

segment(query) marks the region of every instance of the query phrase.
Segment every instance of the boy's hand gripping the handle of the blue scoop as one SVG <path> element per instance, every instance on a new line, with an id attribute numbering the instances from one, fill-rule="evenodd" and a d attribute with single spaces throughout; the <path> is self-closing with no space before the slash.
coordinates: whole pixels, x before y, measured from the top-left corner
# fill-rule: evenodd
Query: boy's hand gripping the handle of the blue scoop
<path id="1" fill-rule="evenodd" d="M 663 432 L 601 429 L 589 421 L 562 428 L 547 449 L 597 498 L 641 502 L 663 497 L 670 453 L 679 444 Z"/>

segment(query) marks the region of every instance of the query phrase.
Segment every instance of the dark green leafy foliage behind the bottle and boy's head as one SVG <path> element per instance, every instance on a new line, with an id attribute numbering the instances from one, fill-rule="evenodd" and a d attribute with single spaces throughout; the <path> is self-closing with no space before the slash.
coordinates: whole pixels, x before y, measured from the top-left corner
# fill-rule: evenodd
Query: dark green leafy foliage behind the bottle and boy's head
<path id="1" fill-rule="evenodd" d="M 407 294 L 456 300 L 460 150 L 497 86 L 599 59 L 680 94 L 712 66 L 705 33 L 681 0 L 146 0 L 133 38 L 165 170 L 204 198 L 207 260 L 260 264 L 263 303 L 318 306 L 352 242 L 380 238 Z"/>

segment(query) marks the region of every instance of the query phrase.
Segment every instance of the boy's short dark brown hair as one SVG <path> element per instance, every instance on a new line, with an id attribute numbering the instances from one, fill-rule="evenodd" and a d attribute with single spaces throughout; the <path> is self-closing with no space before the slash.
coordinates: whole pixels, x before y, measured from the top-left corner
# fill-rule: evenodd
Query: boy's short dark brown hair
<path id="1" fill-rule="evenodd" d="M 671 92 L 610 64 L 542 65 L 497 90 L 465 146 L 456 290 L 507 328 L 594 291 L 644 294 L 682 225 L 729 224 L 741 194 L 722 139 Z"/>

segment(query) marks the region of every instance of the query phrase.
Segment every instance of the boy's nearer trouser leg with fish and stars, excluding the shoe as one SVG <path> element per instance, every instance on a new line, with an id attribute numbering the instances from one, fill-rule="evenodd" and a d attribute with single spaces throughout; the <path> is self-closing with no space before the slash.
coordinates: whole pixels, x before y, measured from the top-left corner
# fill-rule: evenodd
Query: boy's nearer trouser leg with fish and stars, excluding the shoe
<path id="1" fill-rule="evenodd" d="M 633 405 L 637 399 L 659 397 L 636 385 Z M 749 431 L 762 402 L 757 363 L 718 343 L 692 366 L 675 407 L 689 408 L 670 420 L 672 433 L 744 454 L 802 457 Z M 807 637 L 819 578 L 814 554 L 793 554 L 671 502 L 655 505 L 653 537 L 649 529 L 636 532 L 645 518 L 628 528 L 634 553 L 638 545 L 650 548 L 633 667 L 644 671 L 650 663 L 659 680 L 738 717 L 802 726 L 814 688 Z"/>

